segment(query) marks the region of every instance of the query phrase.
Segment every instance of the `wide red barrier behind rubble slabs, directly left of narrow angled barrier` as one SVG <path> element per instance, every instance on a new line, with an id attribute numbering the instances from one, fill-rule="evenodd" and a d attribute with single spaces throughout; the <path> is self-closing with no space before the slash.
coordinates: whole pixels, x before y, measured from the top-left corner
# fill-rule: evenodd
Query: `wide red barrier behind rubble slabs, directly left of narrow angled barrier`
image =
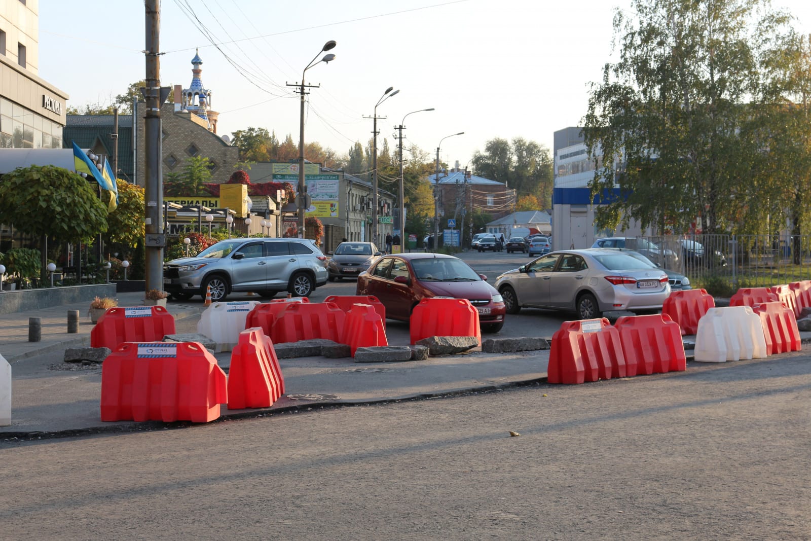
<path id="1" fill-rule="evenodd" d="M 274 344 L 326 338 L 341 341 L 346 314 L 333 303 L 290 303 L 270 329 Z"/>

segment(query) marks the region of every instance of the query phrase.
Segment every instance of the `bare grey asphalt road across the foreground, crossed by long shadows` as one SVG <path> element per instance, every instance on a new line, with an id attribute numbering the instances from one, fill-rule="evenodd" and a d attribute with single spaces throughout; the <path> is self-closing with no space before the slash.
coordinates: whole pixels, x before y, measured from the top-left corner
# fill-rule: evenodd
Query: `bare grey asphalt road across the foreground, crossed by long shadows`
<path id="1" fill-rule="evenodd" d="M 0 442 L 0 537 L 809 539 L 809 360 Z"/>

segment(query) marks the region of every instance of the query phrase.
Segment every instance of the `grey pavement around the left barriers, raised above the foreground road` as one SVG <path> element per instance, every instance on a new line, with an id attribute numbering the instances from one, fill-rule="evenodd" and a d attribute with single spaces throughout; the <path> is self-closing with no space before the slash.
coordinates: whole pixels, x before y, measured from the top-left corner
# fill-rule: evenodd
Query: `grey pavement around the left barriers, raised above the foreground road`
<path id="1" fill-rule="evenodd" d="M 118 294 L 119 306 L 139 306 L 144 293 Z M 204 310 L 169 303 L 178 333 L 196 332 Z M 67 333 L 67 311 L 79 310 L 79 333 Z M 41 318 L 42 340 L 28 342 L 28 318 Z M 2 440 L 30 440 L 99 432 L 132 432 L 189 423 L 102 422 L 101 365 L 63 363 L 64 350 L 88 347 L 93 324 L 88 303 L 75 303 L 0 316 L 0 354 L 11 363 L 11 426 L 0 427 Z M 811 333 L 800 333 L 804 342 Z M 684 337 L 689 342 L 692 337 Z M 230 352 L 213 354 L 228 371 Z M 375 403 L 437 397 L 450 393 L 486 392 L 506 387 L 543 384 L 549 350 L 431 357 L 415 363 L 354 363 L 354 359 L 309 357 L 280 359 L 285 396 L 270 408 L 229 410 L 224 418 L 251 417 L 285 410 L 338 404 Z"/>

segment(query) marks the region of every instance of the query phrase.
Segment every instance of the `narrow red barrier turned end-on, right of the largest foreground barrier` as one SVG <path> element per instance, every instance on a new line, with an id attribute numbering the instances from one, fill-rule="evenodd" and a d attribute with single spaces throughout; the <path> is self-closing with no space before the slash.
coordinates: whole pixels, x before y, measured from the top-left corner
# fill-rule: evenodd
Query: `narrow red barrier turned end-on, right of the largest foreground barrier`
<path id="1" fill-rule="evenodd" d="M 285 393 L 273 343 L 259 327 L 239 333 L 228 370 L 228 409 L 267 408 Z"/>

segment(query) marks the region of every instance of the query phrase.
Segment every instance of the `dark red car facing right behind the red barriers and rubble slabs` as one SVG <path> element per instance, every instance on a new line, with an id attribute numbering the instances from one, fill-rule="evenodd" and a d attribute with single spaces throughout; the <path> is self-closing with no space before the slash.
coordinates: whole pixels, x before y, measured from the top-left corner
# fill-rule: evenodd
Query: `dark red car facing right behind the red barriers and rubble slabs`
<path id="1" fill-rule="evenodd" d="M 413 253 L 388 255 L 358 277 L 358 295 L 374 295 L 386 307 L 386 318 L 408 321 L 427 297 L 466 298 L 485 333 L 504 326 L 504 299 L 487 278 L 453 255 Z"/>

